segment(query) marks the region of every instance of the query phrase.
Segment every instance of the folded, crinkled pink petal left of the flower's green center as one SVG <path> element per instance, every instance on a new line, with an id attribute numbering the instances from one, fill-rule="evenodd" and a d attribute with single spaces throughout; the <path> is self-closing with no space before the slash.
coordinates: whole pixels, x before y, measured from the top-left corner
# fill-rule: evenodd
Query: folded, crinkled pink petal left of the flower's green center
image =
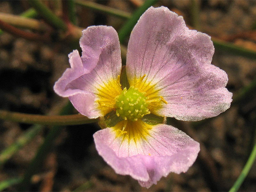
<path id="1" fill-rule="evenodd" d="M 69 97 L 74 107 L 89 118 L 104 116 L 113 109 L 120 94 L 121 52 L 113 27 L 91 26 L 80 39 L 82 56 L 69 54 L 68 68 L 54 85 L 54 91 Z"/>

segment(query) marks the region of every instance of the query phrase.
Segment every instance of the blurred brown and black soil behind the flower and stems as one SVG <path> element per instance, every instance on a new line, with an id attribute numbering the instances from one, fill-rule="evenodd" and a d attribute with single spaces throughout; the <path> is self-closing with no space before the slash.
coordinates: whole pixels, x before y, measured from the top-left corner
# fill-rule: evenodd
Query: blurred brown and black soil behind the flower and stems
<path id="1" fill-rule="evenodd" d="M 140 1 L 97 1 L 134 12 Z M 53 2 L 47 2 L 49 6 Z M 200 31 L 256 50 L 256 1 L 200 1 Z M 191 1 L 159 1 L 193 25 Z M 18 15 L 29 8 L 22 1 L 0 1 L 0 12 Z M 124 19 L 76 6 L 80 27 L 108 25 L 118 30 Z M 248 32 L 249 35 L 244 35 Z M 127 45 L 128 39 L 126 41 Z M 69 67 L 69 42 L 33 42 L 8 33 L 0 35 L 0 108 L 32 114 L 57 114 L 67 99 L 53 92 L 54 82 Z M 255 60 L 216 49 L 212 64 L 224 69 L 227 88 L 238 95 L 256 79 Z M 256 97 L 251 92 L 223 114 L 199 123 L 168 121 L 200 142 L 201 151 L 186 173 L 170 173 L 151 188 L 142 188 L 130 176 L 116 174 L 98 155 L 92 134 L 97 124 L 67 126 L 60 133 L 40 172 L 32 178 L 32 191 L 72 191 L 85 183 L 86 191 L 227 191 L 239 176 L 255 143 Z M 10 146 L 31 125 L 0 121 L 0 151 Z M 0 168 L 0 181 L 22 176 L 43 143 L 49 127 Z M 17 191 L 12 186 L 7 191 Z M 240 191 L 256 191 L 254 163 Z"/>

